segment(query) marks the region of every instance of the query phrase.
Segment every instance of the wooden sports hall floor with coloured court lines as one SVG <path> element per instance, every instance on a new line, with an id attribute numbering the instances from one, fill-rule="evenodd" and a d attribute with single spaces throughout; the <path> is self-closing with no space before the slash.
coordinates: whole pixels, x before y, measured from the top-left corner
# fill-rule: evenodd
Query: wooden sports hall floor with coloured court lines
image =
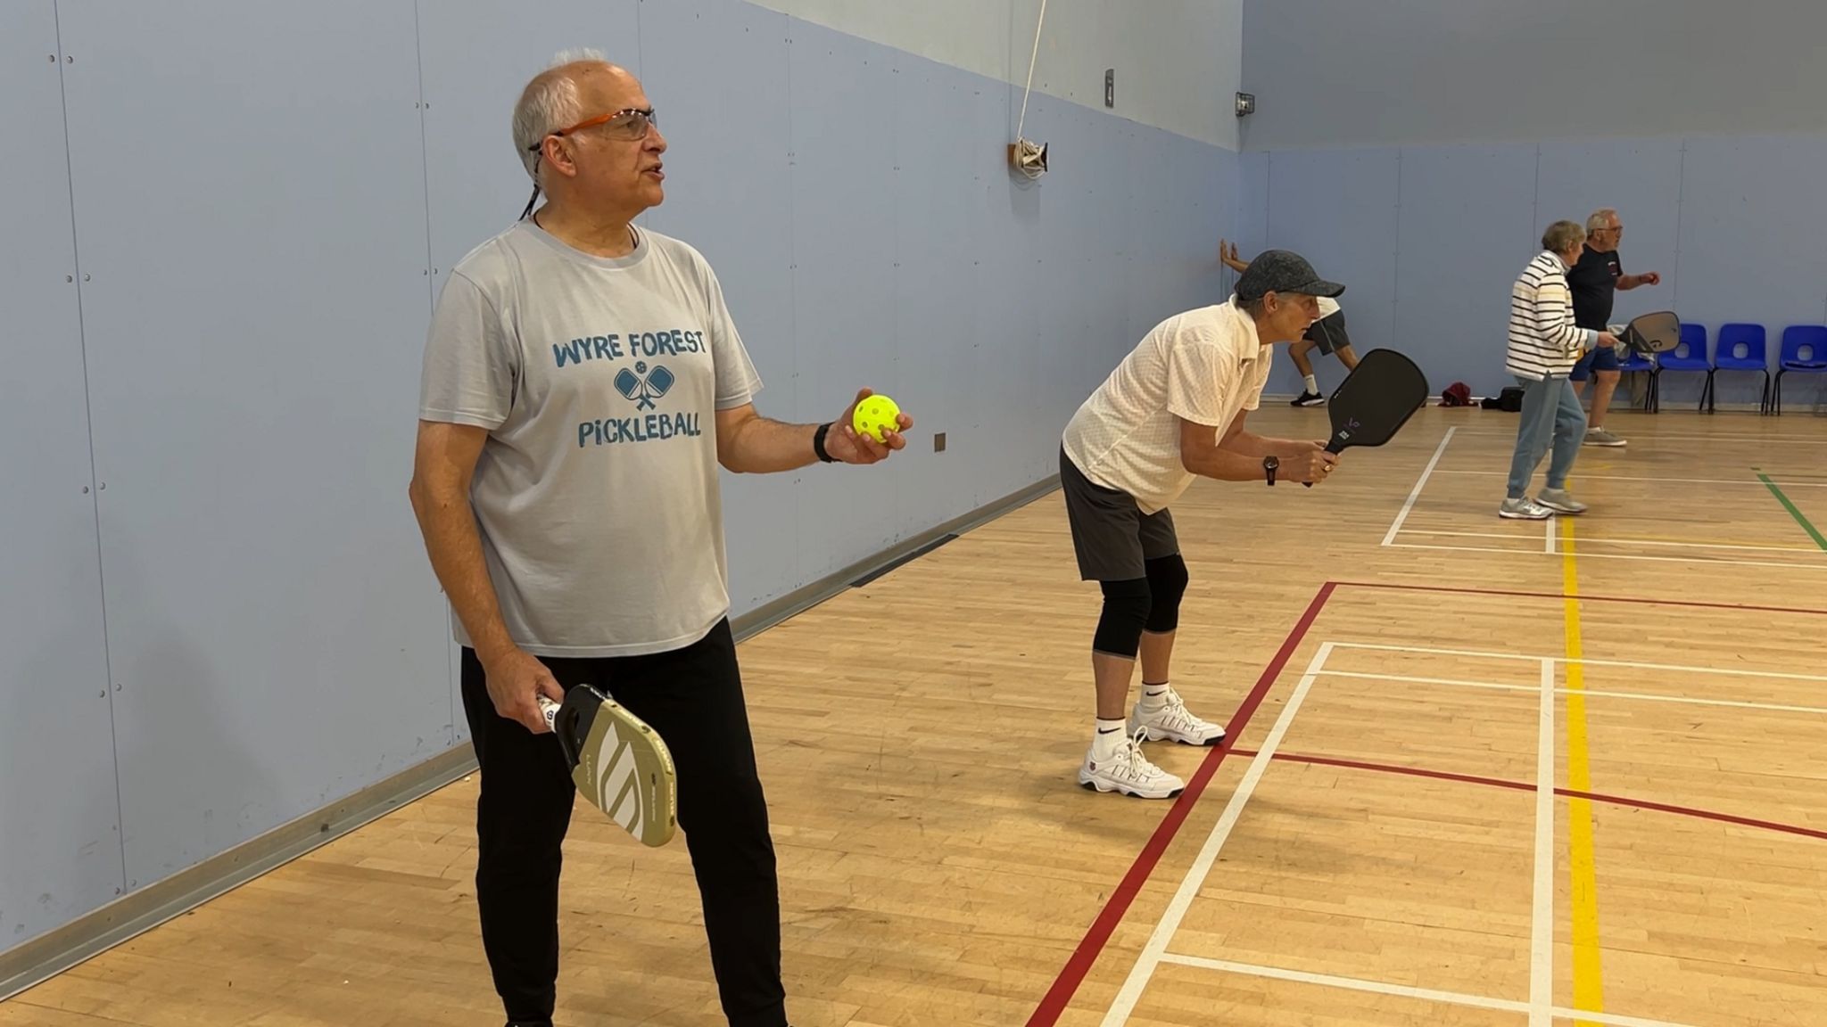
<path id="1" fill-rule="evenodd" d="M 1496 517 L 1494 411 L 1197 484 L 1175 683 L 1233 747 L 1151 746 L 1178 802 L 1074 784 L 1098 594 L 1056 492 L 747 641 L 798 1027 L 1827 1023 L 1827 418 L 1613 429 L 1549 524 Z M 0 1025 L 495 1025 L 475 788 Z M 681 842 L 579 810 L 563 910 L 559 1023 L 722 1023 Z"/>

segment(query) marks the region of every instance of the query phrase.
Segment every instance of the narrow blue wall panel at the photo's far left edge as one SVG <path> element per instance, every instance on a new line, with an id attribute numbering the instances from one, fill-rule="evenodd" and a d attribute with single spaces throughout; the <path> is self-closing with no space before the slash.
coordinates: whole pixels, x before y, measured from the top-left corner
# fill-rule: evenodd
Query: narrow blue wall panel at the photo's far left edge
<path id="1" fill-rule="evenodd" d="M 122 886 L 51 0 L 0 5 L 0 948 Z"/>

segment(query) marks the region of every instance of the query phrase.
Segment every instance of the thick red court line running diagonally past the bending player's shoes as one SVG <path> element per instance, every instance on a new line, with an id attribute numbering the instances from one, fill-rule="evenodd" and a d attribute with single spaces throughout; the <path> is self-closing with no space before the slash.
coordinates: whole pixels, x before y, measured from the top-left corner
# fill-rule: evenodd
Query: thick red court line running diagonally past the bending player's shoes
<path id="1" fill-rule="evenodd" d="M 1319 609 L 1326 605 L 1328 598 L 1332 598 L 1332 581 L 1321 585 L 1319 592 L 1314 594 L 1314 601 L 1306 605 L 1306 612 L 1301 614 L 1301 619 L 1297 619 L 1294 629 L 1288 630 L 1288 638 L 1283 640 L 1281 651 L 1277 651 L 1275 658 L 1262 669 L 1262 676 L 1257 678 L 1255 687 L 1250 689 L 1242 705 L 1239 705 L 1237 713 L 1231 715 L 1231 722 L 1224 725 L 1226 742 L 1206 753 L 1206 758 L 1199 764 L 1199 771 L 1186 782 L 1186 791 L 1180 793 L 1175 804 L 1167 810 L 1167 815 L 1162 817 L 1153 837 L 1149 837 L 1147 844 L 1142 846 L 1142 853 L 1129 864 L 1129 873 L 1124 873 L 1116 892 L 1113 892 L 1111 899 L 1104 903 L 1104 912 L 1100 912 L 1098 919 L 1091 923 L 1091 930 L 1087 930 L 1085 937 L 1080 939 L 1078 948 L 1072 950 L 1072 956 L 1065 961 L 1060 976 L 1054 978 L 1052 987 L 1047 989 L 1047 996 L 1040 1000 L 1034 1014 L 1029 1016 L 1027 1027 L 1052 1027 L 1058 1023 L 1067 1003 L 1072 1001 L 1072 994 L 1078 990 L 1078 985 L 1085 981 L 1093 963 L 1096 963 L 1098 956 L 1104 952 L 1104 945 L 1111 939 L 1116 925 L 1124 919 L 1124 914 L 1129 912 L 1129 903 L 1133 903 L 1142 892 L 1142 884 L 1147 883 L 1149 873 L 1155 872 L 1155 864 L 1158 864 L 1160 857 L 1167 852 L 1167 844 L 1173 842 L 1173 837 L 1180 831 L 1180 824 L 1186 822 L 1186 815 L 1193 811 L 1199 797 L 1206 791 L 1206 784 L 1211 782 L 1211 775 L 1217 773 L 1219 764 L 1222 764 L 1226 753 L 1231 751 L 1230 746 L 1237 744 L 1237 736 L 1242 735 L 1244 727 L 1250 725 L 1250 718 L 1255 716 L 1257 707 L 1262 705 L 1264 698 L 1268 698 L 1270 687 L 1275 685 L 1283 667 L 1288 665 L 1294 651 L 1299 649 L 1301 640 L 1306 638 L 1306 630 L 1314 627 Z"/>

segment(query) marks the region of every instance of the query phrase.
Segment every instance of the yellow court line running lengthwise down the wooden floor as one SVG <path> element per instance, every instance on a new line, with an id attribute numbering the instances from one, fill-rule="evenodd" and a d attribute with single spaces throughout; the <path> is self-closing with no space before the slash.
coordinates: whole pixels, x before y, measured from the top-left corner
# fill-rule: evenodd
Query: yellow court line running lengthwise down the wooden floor
<path id="1" fill-rule="evenodd" d="M 1586 665 L 1580 647 L 1580 579 L 1573 557 L 1573 523 L 1560 524 L 1560 579 L 1568 634 L 1568 789 L 1591 791 L 1586 749 Z M 1593 866 L 1593 804 L 1568 799 L 1568 863 L 1573 892 L 1573 1009 L 1604 1012 L 1599 967 L 1599 875 Z M 1586 1020 L 1577 1022 L 1586 1027 Z M 1597 1025 L 1593 1025 L 1597 1027 Z"/>

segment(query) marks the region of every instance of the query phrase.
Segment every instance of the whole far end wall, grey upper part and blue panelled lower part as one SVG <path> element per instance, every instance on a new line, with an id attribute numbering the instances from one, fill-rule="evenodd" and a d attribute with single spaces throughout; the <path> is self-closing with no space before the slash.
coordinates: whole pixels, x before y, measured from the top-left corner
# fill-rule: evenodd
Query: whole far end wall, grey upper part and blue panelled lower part
<path id="1" fill-rule="evenodd" d="M 1785 325 L 1827 320 L 1827 5 L 1246 0 L 1242 20 L 1259 181 L 1241 199 L 1264 212 L 1246 256 L 1294 247 L 1345 280 L 1359 351 L 1405 349 L 1436 389 L 1502 387 L 1511 281 L 1551 221 L 1599 206 L 1621 212 L 1624 269 L 1663 276 L 1619 294 L 1621 320 L 1761 322 L 1772 362 Z M 1723 376 L 1717 398 L 1759 384 Z M 1272 387 L 1297 391 L 1288 365 Z M 1664 378 L 1664 409 L 1697 397 Z"/>

